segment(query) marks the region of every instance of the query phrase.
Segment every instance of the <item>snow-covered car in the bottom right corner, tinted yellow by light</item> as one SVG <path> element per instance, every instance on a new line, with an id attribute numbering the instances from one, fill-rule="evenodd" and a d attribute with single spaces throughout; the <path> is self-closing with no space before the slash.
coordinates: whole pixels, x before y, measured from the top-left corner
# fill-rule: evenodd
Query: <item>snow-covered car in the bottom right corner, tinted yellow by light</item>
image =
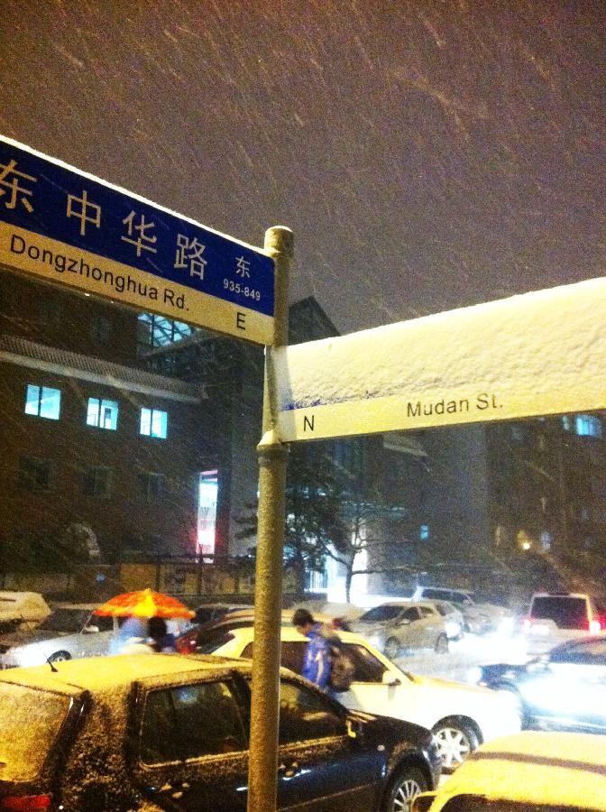
<path id="1" fill-rule="evenodd" d="M 526 731 L 483 744 L 413 812 L 599 812 L 606 738 Z"/>

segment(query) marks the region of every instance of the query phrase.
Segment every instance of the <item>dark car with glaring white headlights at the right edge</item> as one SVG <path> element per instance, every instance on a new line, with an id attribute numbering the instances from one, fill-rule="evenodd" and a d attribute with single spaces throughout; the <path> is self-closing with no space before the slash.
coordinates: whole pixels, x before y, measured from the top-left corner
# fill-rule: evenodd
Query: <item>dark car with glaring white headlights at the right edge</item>
<path id="1" fill-rule="evenodd" d="M 606 637 L 556 646 L 524 665 L 482 666 L 481 685 L 519 698 L 526 727 L 606 734 Z"/>

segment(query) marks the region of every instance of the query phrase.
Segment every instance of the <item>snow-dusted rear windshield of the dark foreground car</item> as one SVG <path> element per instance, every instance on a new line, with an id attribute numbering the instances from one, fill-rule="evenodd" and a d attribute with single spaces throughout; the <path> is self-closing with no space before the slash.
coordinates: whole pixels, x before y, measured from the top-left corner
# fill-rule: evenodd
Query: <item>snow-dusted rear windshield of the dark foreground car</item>
<path id="1" fill-rule="evenodd" d="M 34 779 L 69 711 L 69 697 L 0 683 L 0 781 Z"/>

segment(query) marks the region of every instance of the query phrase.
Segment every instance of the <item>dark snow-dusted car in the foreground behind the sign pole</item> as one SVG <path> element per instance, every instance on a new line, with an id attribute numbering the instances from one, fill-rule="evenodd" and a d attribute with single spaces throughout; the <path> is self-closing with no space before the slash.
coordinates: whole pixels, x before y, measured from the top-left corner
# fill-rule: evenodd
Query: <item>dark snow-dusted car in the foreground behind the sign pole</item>
<path id="1" fill-rule="evenodd" d="M 237 812 L 247 800 L 251 664 L 146 654 L 0 678 L 0 808 Z M 278 808 L 409 808 L 440 758 L 425 728 L 353 713 L 286 669 Z"/>

